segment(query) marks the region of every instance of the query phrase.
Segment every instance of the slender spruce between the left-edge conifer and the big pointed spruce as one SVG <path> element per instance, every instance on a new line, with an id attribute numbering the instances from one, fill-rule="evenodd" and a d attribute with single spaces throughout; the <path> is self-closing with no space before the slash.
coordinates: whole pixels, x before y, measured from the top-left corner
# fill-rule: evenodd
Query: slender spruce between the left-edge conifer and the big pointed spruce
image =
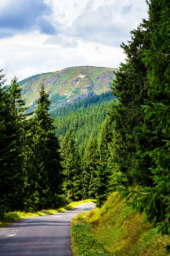
<path id="1" fill-rule="evenodd" d="M 14 129 L 14 141 L 13 147 L 14 150 L 11 151 L 12 157 L 11 160 L 11 169 L 13 169 L 13 175 L 15 173 L 15 180 L 13 180 L 12 192 L 12 209 L 23 209 L 23 188 L 25 180 L 25 162 L 24 162 L 24 127 L 26 124 L 26 111 L 25 99 L 22 99 L 22 89 L 19 88 L 17 83 L 17 77 L 11 80 L 11 84 L 8 88 L 8 100 L 11 107 L 11 124 Z M 8 161 L 10 161 L 8 160 Z"/>

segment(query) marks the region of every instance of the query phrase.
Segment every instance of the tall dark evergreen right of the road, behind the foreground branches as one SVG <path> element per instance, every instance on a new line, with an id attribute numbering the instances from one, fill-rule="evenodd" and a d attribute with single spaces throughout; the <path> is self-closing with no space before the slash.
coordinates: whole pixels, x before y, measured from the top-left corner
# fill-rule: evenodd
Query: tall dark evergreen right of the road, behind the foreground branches
<path id="1" fill-rule="evenodd" d="M 119 105 L 114 106 L 111 115 L 115 139 L 119 145 L 115 148 L 118 169 L 126 174 L 127 184 L 153 186 L 150 168 L 155 167 L 155 162 L 148 151 L 154 149 L 155 143 L 161 146 L 164 135 L 159 126 L 153 126 L 151 119 L 145 117 L 141 105 L 159 102 L 163 94 L 161 90 L 156 91 L 150 87 L 147 78 L 150 67 L 142 59 L 144 49 L 165 50 L 168 43 L 166 37 L 159 34 L 159 2 L 147 1 L 147 4 L 149 20 L 142 20 L 138 28 L 130 32 L 132 37 L 128 45 L 122 44 L 127 58 L 116 73 L 113 94 L 119 99 Z"/>

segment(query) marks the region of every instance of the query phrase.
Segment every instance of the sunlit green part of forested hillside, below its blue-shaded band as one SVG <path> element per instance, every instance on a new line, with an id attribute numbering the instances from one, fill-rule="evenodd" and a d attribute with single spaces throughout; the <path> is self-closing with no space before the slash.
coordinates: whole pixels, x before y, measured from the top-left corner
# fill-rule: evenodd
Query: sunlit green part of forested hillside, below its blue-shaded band
<path id="1" fill-rule="evenodd" d="M 65 136 L 70 126 L 73 127 L 75 139 L 79 145 L 80 152 L 84 152 L 90 137 L 98 137 L 102 122 L 108 112 L 111 102 L 103 102 L 98 105 L 78 109 L 77 111 L 66 111 L 63 116 L 55 118 L 57 126 L 55 134 L 61 139 Z"/>

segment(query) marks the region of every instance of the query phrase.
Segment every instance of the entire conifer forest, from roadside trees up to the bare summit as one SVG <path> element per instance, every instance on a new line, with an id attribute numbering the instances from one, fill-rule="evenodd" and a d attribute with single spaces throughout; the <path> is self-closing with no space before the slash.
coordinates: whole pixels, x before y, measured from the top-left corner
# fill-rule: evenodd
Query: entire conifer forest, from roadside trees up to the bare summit
<path id="1" fill-rule="evenodd" d="M 119 191 L 170 236 L 170 1 L 147 0 L 111 91 L 50 110 L 42 83 L 28 111 L 0 70 L 0 218 Z M 167 245 L 170 251 L 170 245 Z"/>

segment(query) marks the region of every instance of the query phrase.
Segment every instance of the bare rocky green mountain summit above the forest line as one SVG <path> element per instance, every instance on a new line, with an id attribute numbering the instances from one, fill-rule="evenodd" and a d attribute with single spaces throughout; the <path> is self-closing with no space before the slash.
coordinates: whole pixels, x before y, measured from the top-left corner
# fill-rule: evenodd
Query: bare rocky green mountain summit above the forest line
<path id="1" fill-rule="evenodd" d="M 44 83 L 45 91 L 53 101 L 51 110 L 70 103 L 99 95 L 110 90 L 115 78 L 113 71 L 106 67 L 70 67 L 60 71 L 31 76 L 20 81 L 23 98 L 29 111 L 34 110 L 39 97 L 40 85 Z"/>

